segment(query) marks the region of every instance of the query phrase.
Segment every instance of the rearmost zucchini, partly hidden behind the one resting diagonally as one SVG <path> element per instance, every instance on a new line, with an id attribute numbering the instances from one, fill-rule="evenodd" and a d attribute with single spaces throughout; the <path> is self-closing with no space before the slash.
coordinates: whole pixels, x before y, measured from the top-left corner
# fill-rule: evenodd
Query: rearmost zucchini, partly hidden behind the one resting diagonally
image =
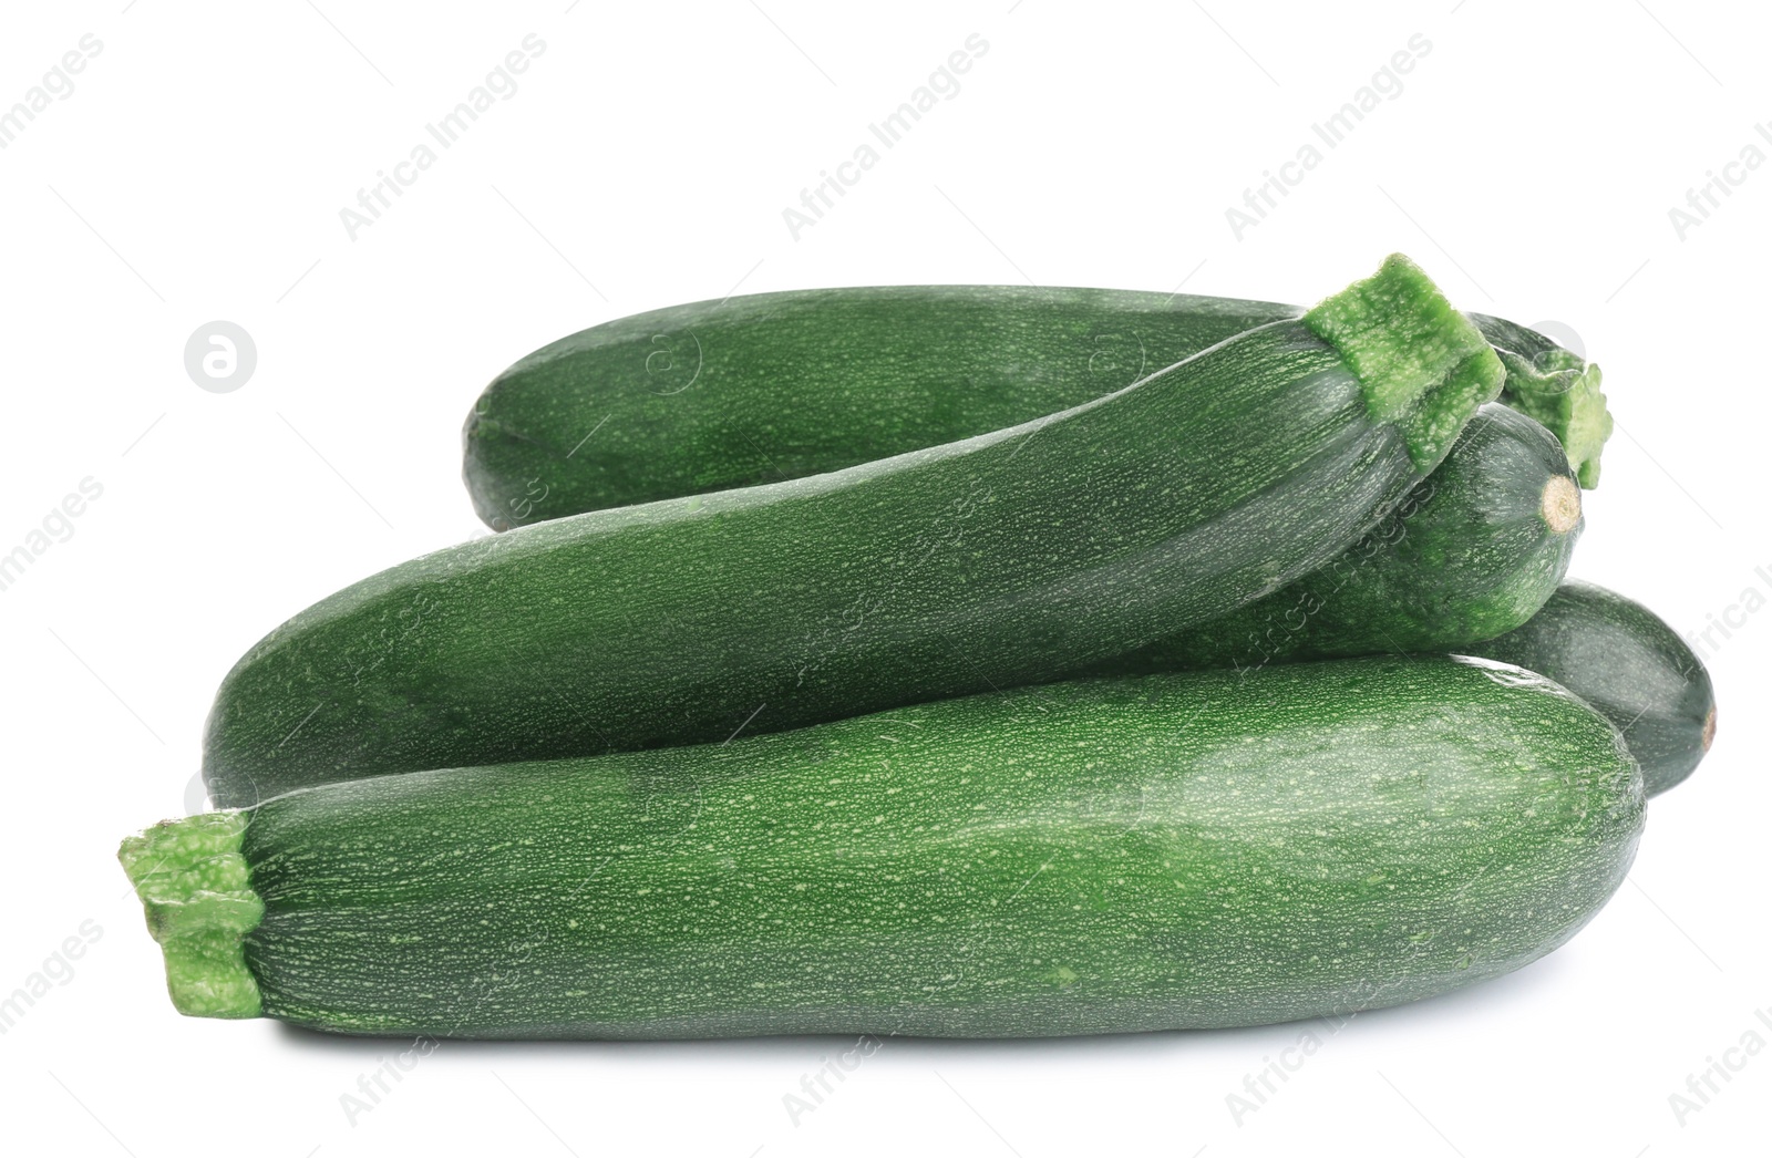
<path id="1" fill-rule="evenodd" d="M 617 319 L 500 374 L 462 428 L 494 529 L 838 471 L 1111 393 L 1299 306 L 1095 289 L 930 285 L 703 301 Z M 1473 313 L 1503 402 L 1598 482 L 1600 372 Z"/>

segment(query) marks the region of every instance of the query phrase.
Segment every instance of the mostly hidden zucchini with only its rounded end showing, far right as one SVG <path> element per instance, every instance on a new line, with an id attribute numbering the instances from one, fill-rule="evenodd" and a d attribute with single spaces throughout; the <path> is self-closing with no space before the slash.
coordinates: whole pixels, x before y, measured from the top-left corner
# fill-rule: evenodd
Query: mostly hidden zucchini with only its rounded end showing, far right
<path id="1" fill-rule="evenodd" d="M 1710 751 L 1717 696 L 1678 632 L 1639 602 L 1593 583 L 1565 583 L 1524 627 L 1473 648 L 1575 692 L 1625 737 L 1650 795 L 1667 791 Z"/>

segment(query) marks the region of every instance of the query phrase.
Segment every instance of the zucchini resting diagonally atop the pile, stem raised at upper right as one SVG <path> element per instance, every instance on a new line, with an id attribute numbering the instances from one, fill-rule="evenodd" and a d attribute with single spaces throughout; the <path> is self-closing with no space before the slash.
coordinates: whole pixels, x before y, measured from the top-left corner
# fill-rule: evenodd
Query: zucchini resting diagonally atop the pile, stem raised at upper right
<path id="1" fill-rule="evenodd" d="M 1333 560 L 1501 375 L 1393 257 L 1301 320 L 1022 427 L 439 551 L 234 666 L 209 795 L 718 742 L 1051 680 Z"/>

